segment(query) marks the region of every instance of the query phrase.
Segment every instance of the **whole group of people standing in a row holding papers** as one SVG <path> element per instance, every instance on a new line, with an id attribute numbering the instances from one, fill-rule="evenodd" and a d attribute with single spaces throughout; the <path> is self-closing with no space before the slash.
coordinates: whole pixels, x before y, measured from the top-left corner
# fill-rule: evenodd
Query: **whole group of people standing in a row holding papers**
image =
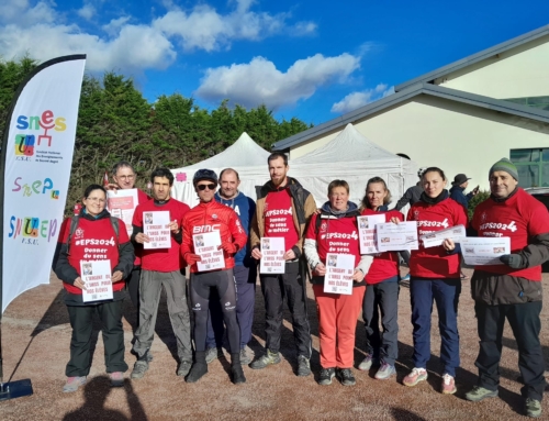
<path id="1" fill-rule="evenodd" d="M 123 373 L 127 369 L 121 321 L 125 284 L 139 314 L 133 345 L 137 361 L 132 378 L 142 378 L 153 359 L 150 347 L 163 286 L 177 339 L 177 374 L 186 381 L 198 381 L 208 373 L 208 364 L 221 355 L 225 331 L 234 384 L 246 381 L 243 364 L 249 364 L 251 369 L 264 369 L 280 363 L 284 300 L 295 339 L 295 374 L 309 376 L 312 341 L 306 308 L 307 278 L 313 284 L 318 317 L 322 366 L 318 384 L 329 385 L 334 377 L 345 386 L 356 384 L 354 348 L 360 312 L 367 341 L 366 357 L 358 368 L 374 369 L 377 379 L 393 377 L 399 357 L 401 256 L 399 252 L 361 255 L 357 235 L 357 217 L 380 214 L 385 222 L 395 224 L 416 221 L 418 235 L 464 225 L 468 236 L 511 239 L 511 254 L 501 256 L 502 264 L 477 266 L 471 278 L 480 337 L 475 362 L 479 380 L 466 398 L 480 401 L 497 396 L 503 325 L 507 319 L 518 346 L 525 412 L 529 417 L 541 414 L 546 380 L 539 341 L 540 265 L 549 259 L 549 213 L 518 187 L 517 169 L 508 159 L 502 158 L 490 168 L 491 196 L 477 207 L 471 221 L 463 203 L 455 200 L 453 195 L 450 197 L 446 189 L 447 177 L 437 167 L 422 169 L 417 186 L 421 191 L 406 218 L 399 206 L 399 209 L 388 209 L 391 193 L 380 177 L 368 180 L 365 197 L 358 204 L 349 201 L 349 186 L 345 180 L 333 180 L 327 189 L 328 200 L 316 209 L 313 196 L 288 175 L 290 167 L 285 154 L 272 153 L 268 169 L 270 180 L 261 187 L 257 202 L 238 191 L 236 170 L 224 169 L 217 178 L 213 170 L 200 169 L 193 177 L 200 202 L 189 209 L 170 196 L 171 171 L 158 168 L 150 177 L 153 198 L 139 196 L 131 236 L 123 228 L 117 229 L 117 220 L 105 209 L 105 188 L 92 185 L 86 189 L 80 214 L 67 219 L 63 225 L 54 262 L 55 272 L 66 289 L 65 302 L 72 326 L 65 391 L 75 391 L 87 381 L 91 362 L 91 317 L 96 309 L 103 322 L 107 372 L 113 386 L 123 385 Z M 461 188 L 466 184 L 467 187 L 468 179 L 461 176 L 456 177 L 453 186 Z M 115 185 L 107 188 L 133 188 L 135 171 L 128 163 L 120 163 L 113 170 L 113 178 Z M 464 187 L 458 192 L 463 195 L 462 190 Z M 472 195 L 477 191 L 478 188 Z M 171 247 L 145 248 L 143 245 L 150 239 L 143 230 L 143 214 L 158 210 L 169 212 Z M 121 221 L 120 224 L 124 226 Z M 223 253 L 224 268 L 204 270 L 201 266 L 199 269 L 202 257 L 197 253 L 193 235 L 212 231 L 221 236 L 217 251 Z M 113 242 L 113 237 L 116 241 Z M 283 237 L 285 267 L 283 274 L 259 274 L 265 298 L 266 344 L 265 353 L 250 361 L 246 345 L 251 339 L 257 265 L 264 257 L 264 237 Z M 81 299 L 86 285 L 80 276 L 80 261 L 89 253 L 88 244 L 102 244 L 102 254 L 111 263 L 112 300 L 83 302 Z M 336 252 L 354 256 L 350 295 L 330 293 L 324 288 L 326 256 Z M 414 345 L 414 366 L 403 384 L 413 387 L 427 379 L 435 303 L 441 337 L 440 391 L 455 394 L 456 369 L 460 365 L 457 322 L 461 293 L 460 244 L 446 239 L 440 246 L 426 248 L 419 244 L 410 258 L 405 251 L 402 256 L 410 266 Z M 187 266 L 190 268 L 188 288 Z M 187 291 L 194 315 L 192 326 Z"/>

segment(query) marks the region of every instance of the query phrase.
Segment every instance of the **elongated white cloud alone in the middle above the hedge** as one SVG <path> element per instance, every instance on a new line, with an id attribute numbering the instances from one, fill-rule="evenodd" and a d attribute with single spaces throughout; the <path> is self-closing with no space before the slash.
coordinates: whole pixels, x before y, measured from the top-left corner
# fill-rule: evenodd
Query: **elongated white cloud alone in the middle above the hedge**
<path id="1" fill-rule="evenodd" d="M 282 73 L 272 62 L 255 57 L 249 64 L 208 69 L 195 95 L 212 102 L 228 98 L 247 108 L 265 103 L 274 110 L 310 98 L 323 86 L 344 82 L 359 66 L 359 58 L 350 54 L 337 57 L 316 54 L 295 62 Z"/>

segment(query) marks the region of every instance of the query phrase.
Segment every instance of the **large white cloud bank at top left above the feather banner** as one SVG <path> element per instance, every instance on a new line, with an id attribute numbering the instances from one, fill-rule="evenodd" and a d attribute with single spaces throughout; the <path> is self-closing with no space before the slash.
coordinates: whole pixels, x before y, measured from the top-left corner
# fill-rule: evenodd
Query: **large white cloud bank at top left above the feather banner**
<path id="1" fill-rule="evenodd" d="M 54 0 L 0 0 L 0 57 L 16 59 L 25 54 L 45 60 L 65 54 L 86 53 L 89 70 L 146 68 L 163 69 L 177 58 L 173 43 L 186 51 L 229 48 L 235 40 L 259 41 L 276 33 L 312 33 L 309 22 L 288 25 L 290 14 L 250 11 L 255 0 L 232 0 L 234 9 L 220 14 L 203 3 L 188 12 L 171 0 L 165 15 L 135 24 L 135 16 L 122 16 L 101 26 L 97 33 L 85 32 L 60 12 Z M 86 0 L 76 15 L 90 20 L 99 16 L 97 2 Z M 75 12 L 75 11 L 74 11 Z M 131 23 L 132 22 L 132 23 Z M 283 31 L 284 30 L 284 31 Z M 287 31 L 288 30 L 288 31 Z"/>

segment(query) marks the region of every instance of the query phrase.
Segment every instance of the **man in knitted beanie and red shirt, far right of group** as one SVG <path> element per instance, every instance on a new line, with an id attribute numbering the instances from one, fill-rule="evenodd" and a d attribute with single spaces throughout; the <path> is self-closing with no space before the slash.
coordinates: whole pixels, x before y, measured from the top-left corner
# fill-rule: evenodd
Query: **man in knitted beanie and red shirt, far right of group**
<path id="1" fill-rule="evenodd" d="M 518 347 L 518 368 L 528 417 L 541 416 L 546 388 L 541 322 L 541 264 L 549 258 L 549 214 L 546 207 L 518 187 L 518 171 L 507 158 L 490 169 L 491 196 L 474 210 L 474 236 L 511 239 L 511 254 L 503 265 L 475 266 L 471 295 L 475 301 L 480 350 L 479 380 L 466 394 L 473 402 L 497 396 L 505 319 Z"/>

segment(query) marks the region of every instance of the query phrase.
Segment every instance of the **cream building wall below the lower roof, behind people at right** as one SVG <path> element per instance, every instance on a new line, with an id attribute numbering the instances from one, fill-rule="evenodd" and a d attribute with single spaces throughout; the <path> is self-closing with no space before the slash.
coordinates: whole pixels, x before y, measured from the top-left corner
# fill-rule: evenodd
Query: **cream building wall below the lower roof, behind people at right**
<path id="1" fill-rule="evenodd" d="M 449 181 L 467 174 L 470 188 L 488 189 L 490 167 L 508 158 L 509 149 L 549 147 L 549 124 L 428 96 L 356 122 L 355 128 L 385 149 L 408 155 L 419 167 L 440 167 Z M 298 146 L 290 156 L 301 156 L 336 135 Z"/>

